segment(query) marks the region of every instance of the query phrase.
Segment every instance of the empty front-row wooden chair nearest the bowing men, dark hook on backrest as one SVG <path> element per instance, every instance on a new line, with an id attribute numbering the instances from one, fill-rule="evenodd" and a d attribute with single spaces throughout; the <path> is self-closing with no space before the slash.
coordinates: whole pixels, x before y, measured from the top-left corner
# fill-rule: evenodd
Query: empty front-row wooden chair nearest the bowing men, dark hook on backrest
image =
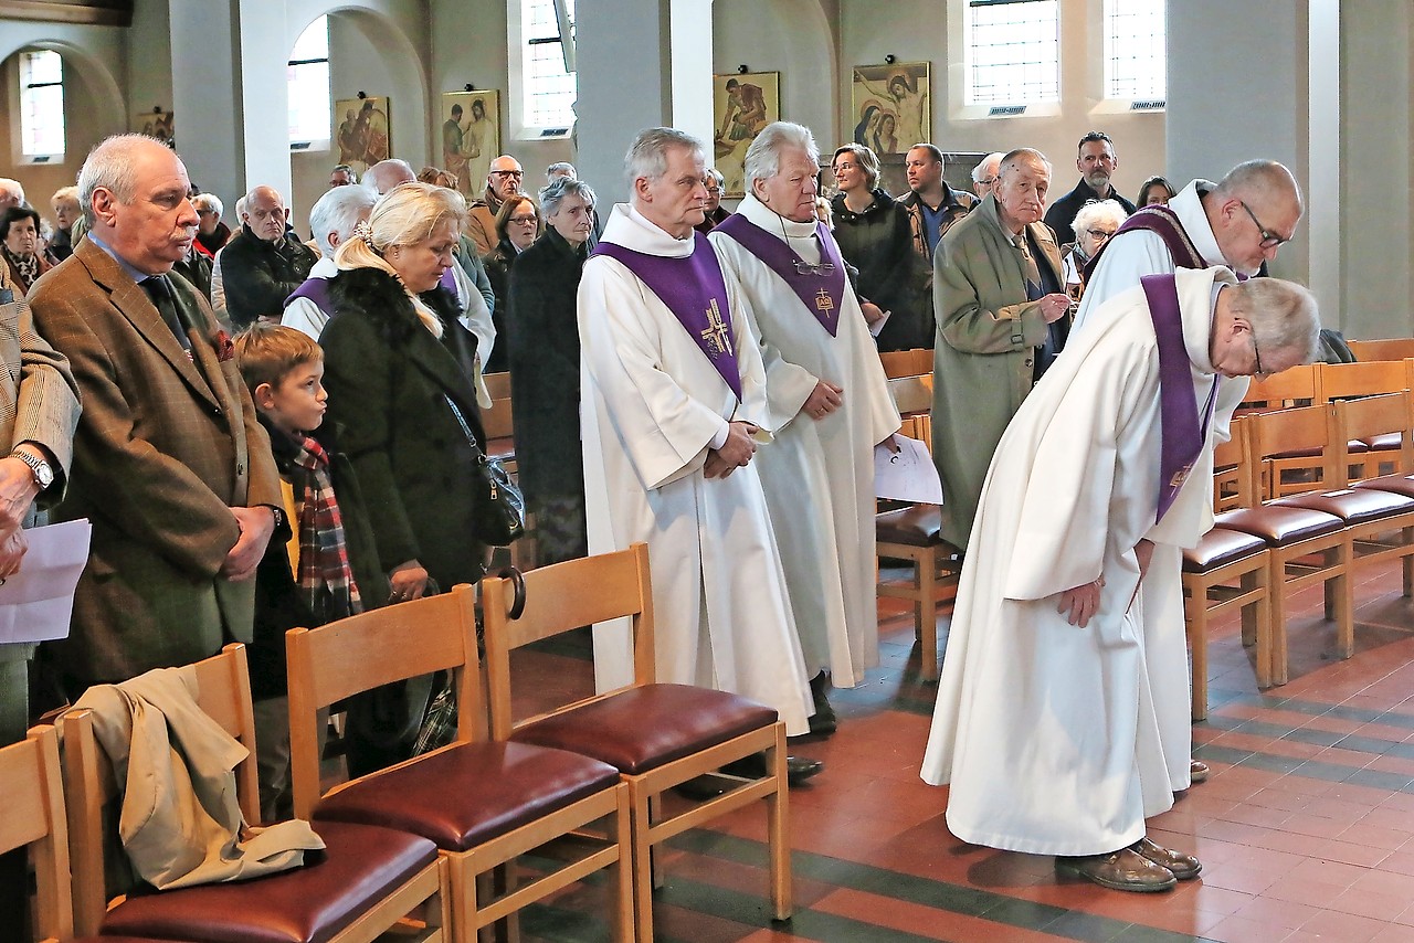
<path id="1" fill-rule="evenodd" d="M 653 594 L 648 546 L 570 560 L 523 577 L 523 609 L 512 580 L 482 581 L 491 717 L 498 739 L 571 749 L 619 771 L 633 813 L 636 940 L 653 939 L 652 851 L 673 836 L 758 800 L 766 804 L 771 902 L 790 918 L 790 826 L 786 799 L 786 732 L 776 711 L 725 691 L 655 683 Z M 577 626 L 626 618 L 633 679 L 550 713 L 516 720 L 510 703 L 510 652 Z M 660 817 L 659 797 L 728 763 L 765 755 L 755 776 L 723 776 L 723 795 Z"/>

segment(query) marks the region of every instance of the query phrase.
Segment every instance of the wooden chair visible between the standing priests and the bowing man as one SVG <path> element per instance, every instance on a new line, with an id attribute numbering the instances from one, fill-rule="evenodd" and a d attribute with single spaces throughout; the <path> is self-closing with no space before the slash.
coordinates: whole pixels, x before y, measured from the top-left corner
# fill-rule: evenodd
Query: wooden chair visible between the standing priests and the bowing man
<path id="1" fill-rule="evenodd" d="M 902 434 L 932 444 L 928 416 L 904 420 Z M 911 505 L 874 517 L 875 553 L 880 558 L 906 560 L 909 578 L 878 581 L 878 594 L 913 605 L 913 638 L 919 648 L 919 676 L 937 680 L 937 607 L 957 595 L 962 550 L 942 539 L 943 516 L 937 505 Z"/>

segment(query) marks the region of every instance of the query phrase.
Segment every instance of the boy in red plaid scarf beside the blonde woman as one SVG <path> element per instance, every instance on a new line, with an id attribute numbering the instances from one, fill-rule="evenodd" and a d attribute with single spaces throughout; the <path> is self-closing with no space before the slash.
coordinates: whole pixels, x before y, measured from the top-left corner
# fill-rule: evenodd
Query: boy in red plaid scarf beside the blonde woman
<path id="1" fill-rule="evenodd" d="M 277 821 L 290 814 L 284 633 L 382 605 L 389 584 L 372 550 L 352 468 L 312 435 L 328 399 L 320 345 L 294 328 L 257 321 L 236 336 L 236 353 L 260 423 L 270 433 L 288 522 L 287 541 L 271 540 L 256 571 L 249 646 L 260 816 Z"/>

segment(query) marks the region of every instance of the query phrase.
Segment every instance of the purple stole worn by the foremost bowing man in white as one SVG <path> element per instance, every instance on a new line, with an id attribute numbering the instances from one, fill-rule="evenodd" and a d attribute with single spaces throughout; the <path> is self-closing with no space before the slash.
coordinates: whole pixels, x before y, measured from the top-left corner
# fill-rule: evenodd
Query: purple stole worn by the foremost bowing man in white
<path id="1" fill-rule="evenodd" d="M 1193 400 L 1193 373 L 1184 346 L 1184 320 L 1178 310 L 1178 286 L 1174 276 L 1144 276 L 1140 279 L 1148 300 L 1154 338 L 1158 341 L 1158 396 L 1162 452 L 1158 468 L 1158 523 L 1178 498 L 1178 489 L 1188 481 L 1193 462 L 1208 441 L 1208 426 L 1217 404 L 1217 383 L 1208 393 L 1202 424 Z"/>

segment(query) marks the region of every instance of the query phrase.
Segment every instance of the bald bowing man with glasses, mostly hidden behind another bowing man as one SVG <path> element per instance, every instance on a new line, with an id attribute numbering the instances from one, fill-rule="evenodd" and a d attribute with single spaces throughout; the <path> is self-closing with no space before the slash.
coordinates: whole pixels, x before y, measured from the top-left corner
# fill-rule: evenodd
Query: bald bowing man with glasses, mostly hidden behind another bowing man
<path id="1" fill-rule="evenodd" d="M 1301 189 L 1277 161 L 1246 161 L 1217 184 L 1195 180 L 1167 206 L 1150 205 L 1126 219 L 1100 246 L 1087 266 L 1075 329 L 1097 320 L 1106 301 L 1134 288 L 1144 276 L 1209 266 L 1226 266 L 1239 279 L 1257 274 L 1295 235 L 1301 211 Z M 1213 416 L 1216 441 L 1227 441 L 1233 410 L 1246 392 L 1247 380 L 1223 385 Z M 1212 478 L 1208 452 L 1203 462 L 1192 475 L 1199 484 Z M 1212 489 L 1185 488 L 1152 536 L 1154 563 L 1134 604 L 1144 626 L 1150 687 L 1175 790 L 1208 779 L 1208 765 L 1192 758 L 1182 568 L 1184 549 L 1196 546 L 1212 526 Z"/>

